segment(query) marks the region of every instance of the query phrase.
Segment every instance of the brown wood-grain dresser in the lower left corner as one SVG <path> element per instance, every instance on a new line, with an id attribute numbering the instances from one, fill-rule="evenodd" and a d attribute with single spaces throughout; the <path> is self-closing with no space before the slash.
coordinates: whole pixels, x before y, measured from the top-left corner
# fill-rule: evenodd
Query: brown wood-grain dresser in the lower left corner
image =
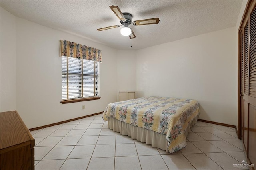
<path id="1" fill-rule="evenodd" d="M 34 170 L 35 140 L 17 111 L 0 113 L 1 170 Z"/>

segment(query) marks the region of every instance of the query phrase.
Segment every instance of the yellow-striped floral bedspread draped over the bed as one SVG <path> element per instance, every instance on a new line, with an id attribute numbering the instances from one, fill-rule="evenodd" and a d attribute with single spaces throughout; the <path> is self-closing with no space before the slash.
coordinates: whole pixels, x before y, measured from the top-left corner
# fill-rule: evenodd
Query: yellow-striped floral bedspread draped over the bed
<path id="1" fill-rule="evenodd" d="M 185 130 L 199 114 L 199 104 L 191 99 L 142 97 L 110 103 L 103 113 L 108 117 L 166 135 L 168 150 L 186 147 Z"/>

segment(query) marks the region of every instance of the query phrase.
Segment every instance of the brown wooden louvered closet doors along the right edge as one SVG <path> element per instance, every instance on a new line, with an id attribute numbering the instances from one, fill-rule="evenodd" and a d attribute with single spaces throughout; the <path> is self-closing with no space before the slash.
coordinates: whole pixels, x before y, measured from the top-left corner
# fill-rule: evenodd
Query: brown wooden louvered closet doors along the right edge
<path id="1" fill-rule="evenodd" d="M 239 30 L 240 111 L 247 162 L 256 163 L 256 1 L 248 2 Z M 241 160 L 242 161 L 242 160 Z M 254 168 L 253 168 L 254 169 Z"/>

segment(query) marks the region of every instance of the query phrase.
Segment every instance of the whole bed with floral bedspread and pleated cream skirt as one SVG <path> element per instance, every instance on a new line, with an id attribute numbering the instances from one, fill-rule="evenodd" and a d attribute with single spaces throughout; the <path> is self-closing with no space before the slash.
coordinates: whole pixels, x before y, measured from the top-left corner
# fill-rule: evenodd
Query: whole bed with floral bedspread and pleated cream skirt
<path id="1" fill-rule="evenodd" d="M 173 153 L 186 147 L 198 115 L 196 100 L 153 96 L 110 103 L 102 118 L 113 131 Z"/>

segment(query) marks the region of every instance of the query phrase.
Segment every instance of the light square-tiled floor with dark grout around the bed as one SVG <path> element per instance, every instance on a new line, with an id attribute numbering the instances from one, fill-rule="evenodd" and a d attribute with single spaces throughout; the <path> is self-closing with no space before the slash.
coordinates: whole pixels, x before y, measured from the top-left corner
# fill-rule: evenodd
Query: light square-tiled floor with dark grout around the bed
<path id="1" fill-rule="evenodd" d="M 234 128 L 197 122 L 187 146 L 170 154 L 113 132 L 102 115 L 32 131 L 36 170 L 248 169 Z"/>

